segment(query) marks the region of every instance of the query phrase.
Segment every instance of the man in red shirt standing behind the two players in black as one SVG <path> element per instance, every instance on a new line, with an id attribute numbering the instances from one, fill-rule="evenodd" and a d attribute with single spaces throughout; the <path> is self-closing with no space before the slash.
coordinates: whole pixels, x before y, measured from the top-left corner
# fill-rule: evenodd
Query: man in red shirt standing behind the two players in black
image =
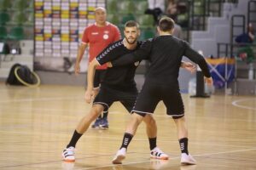
<path id="1" fill-rule="evenodd" d="M 84 29 L 82 42 L 79 46 L 79 52 L 76 59 L 76 74 L 79 74 L 80 62 L 87 47 L 89 47 L 90 62 L 100 54 L 104 48 L 107 48 L 110 43 L 118 41 L 121 38 L 119 28 L 107 21 L 107 11 L 105 8 L 98 7 L 95 9 L 95 20 L 96 22 L 93 25 Z M 97 92 L 106 70 L 107 65 L 96 67 L 94 88 Z M 103 111 L 103 116 L 99 116 L 91 127 L 108 129 L 108 110 Z"/>

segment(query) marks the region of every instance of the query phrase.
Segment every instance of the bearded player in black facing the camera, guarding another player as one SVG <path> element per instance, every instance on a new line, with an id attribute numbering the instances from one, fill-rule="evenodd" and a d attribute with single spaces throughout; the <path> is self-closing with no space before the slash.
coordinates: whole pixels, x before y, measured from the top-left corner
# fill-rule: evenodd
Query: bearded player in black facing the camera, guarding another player
<path id="1" fill-rule="evenodd" d="M 90 100 L 95 96 L 93 90 L 94 72 L 97 65 L 103 65 L 108 61 L 117 59 L 124 54 L 130 54 L 139 48 L 142 42 L 137 42 L 137 37 L 140 34 L 139 27 L 135 21 L 128 21 L 125 24 L 125 38 L 123 40 L 113 42 L 105 48 L 96 59 L 90 62 L 88 68 L 87 90 L 84 94 L 85 100 L 90 103 Z M 79 122 L 78 127 L 73 133 L 73 137 L 67 144 L 67 148 L 63 150 L 62 157 L 64 161 L 74 161 L 74 148 L 80 137 L 90 126 L 96 117 L 101 114 L 104 109 L 108 109 L 114 101 L 120 101 L 127 111 L 131 109 L 137 98 L 137 87 L 134 81 L 135 71 L 138 62 L 120 67 L 108 68 L 106 75 L 101 82 L 99 94 L 94 99 L 90 113 L 85 115 Z M 193 66 L 193 65 L 192 65 Z M 183 67 L 190 71 L 191 64 L 183 63 Z M 157 127 L 153 116 L 145 116 L 147 134 L 150 146 L 150 156 L 156 159 L 168 159 L 168 156 L 156 146 Z M 125 139 L 126 140 L 126 139 Z M 126 144 L 124 144 L 125 147 Z M 156 154 L 159 153 L 159 154 Z"/>

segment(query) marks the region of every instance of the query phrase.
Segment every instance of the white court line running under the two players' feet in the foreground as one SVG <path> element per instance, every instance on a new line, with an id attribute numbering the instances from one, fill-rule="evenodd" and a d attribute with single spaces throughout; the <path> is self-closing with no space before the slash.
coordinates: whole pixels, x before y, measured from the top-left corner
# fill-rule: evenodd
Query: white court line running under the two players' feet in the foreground
<path id="1" fill-rule="evenodd" d="M 251 150 L 256 150 L 256 148 L 252 148 L 252 149 L 247 149 L 247 150 L 232 150 L 232 151 L 222 151 L 222 152 L 216 152 L 216 153 L 208 153 L 208 154 L 199 154 L 199 155 L 194 155 L 194 157 L 201 157 L 201 156 L 214 156 L 214 155 L 221 155 L 221 154 L 230 154 L 230 153 L 236 153 L 236 152 L 243 152 L 243 151 L 251 151 Z M 176 159 L 180 159 L 180 156 L 177 157 L 172 157 L 172 159 L 170 160 L 176 160 Z M 148 160 L 150 161 L 150 160 Z M 123 163 L 120 165 L 131 165 L 131 164 L 137 164 L 137 163 L 145 163 L 148 161 L 132 161 L 129 163 Z M 113 164 L 108 164 L 105 166 L 100 166 L 100 167 L 84 167 L 84 168 L 79 168 L 79 170 L 84 170 L 84 169 L 98 169 L 98 168 L 102 168 L 102 167 L 114 167 L 115 165 Z"/>

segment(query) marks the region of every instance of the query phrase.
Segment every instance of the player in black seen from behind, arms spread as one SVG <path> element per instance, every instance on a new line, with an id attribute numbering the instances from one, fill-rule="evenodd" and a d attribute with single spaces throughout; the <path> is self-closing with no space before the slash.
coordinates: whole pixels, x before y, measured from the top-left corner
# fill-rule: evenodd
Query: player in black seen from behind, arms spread
<path id="1" fill-rule="evenodd" d="M 185 124 L 184 107 L 179 85 L 177 81 L 179 65 L 183 56 L 188 57 L 201 67 L 206 77 L 207 83 L 212 84 L 212 78 L 207 67 L 206 60 L 194 49 L 189 47 L 177 37 L 172 36 L 174 21 L 171 18 L 160 20 L 158 31 L 159 37 L 148 39 L 143 46 L 132 54 L 126 54 L 112 62 L 115 66 L 130 65 L 142 59 L 149 59 L 151 65 L 148 69 L 143 89 L 137 96 L 137 101 L 131 112 L 131 122 L 125 130 L 122 146 L 113 158 L 113 163 L 122 163 L 125 158 L 127 145 L 137 131 L 137 127 L 143 119 L 154 113 L 156 105 L 163 100 L 166 105 L 168 116 L 172 116 L 177 125 L 177 135 L 181 149 L 181 164 L 195 164 L 195 159 L 189 155 L 188 150 L 188 130 Z M 127 138 L 129 136 L 130 138 Z"/>

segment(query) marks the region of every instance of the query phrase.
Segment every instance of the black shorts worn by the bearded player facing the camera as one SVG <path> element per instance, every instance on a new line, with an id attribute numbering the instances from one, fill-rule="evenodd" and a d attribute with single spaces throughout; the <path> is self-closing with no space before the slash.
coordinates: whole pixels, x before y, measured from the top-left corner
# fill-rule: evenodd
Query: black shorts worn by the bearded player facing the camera
<path id="1" fill-rule="evenodd" d="M 135 100 L 137 98 L 137 88 L 118 90 L 114 88 L 109 88 L 104 85 L 101 86 L 99 94 L 96 95 L 96 98 L 93 101 L 93 104 L 100 104 L 104 106 L 104 111 L 115 101 L 121 102 L 125 106 L 125 109 L 131 112 Z"/>

